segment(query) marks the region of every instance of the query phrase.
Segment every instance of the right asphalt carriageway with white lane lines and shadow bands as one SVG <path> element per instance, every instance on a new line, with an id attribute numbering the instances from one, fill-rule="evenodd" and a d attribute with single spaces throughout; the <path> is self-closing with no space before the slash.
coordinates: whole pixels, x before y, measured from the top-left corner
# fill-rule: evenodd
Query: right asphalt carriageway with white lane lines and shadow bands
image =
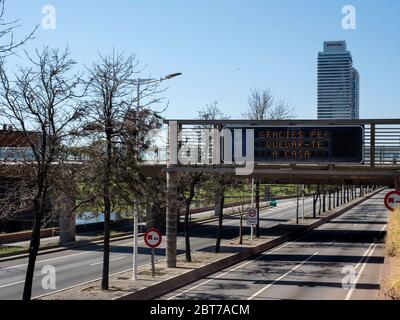
<path id="1" fill-rule="evenodd" d="M 376 299 L 388 218 L 386 192 L 295 241 L 161 299 Z"/>

